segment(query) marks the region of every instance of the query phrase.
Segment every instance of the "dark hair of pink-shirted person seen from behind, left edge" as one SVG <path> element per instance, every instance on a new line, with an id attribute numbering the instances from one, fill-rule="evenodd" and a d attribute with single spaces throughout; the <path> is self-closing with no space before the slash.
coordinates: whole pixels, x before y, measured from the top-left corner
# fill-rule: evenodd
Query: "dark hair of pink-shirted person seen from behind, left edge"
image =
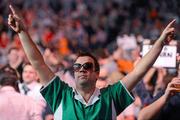
<path id="1" fill-rule="evenodd" d="M 17 89 L 18 75 L 15 69 L 9 65 L 0 68 L 0 85 L 12 86 Z"/>

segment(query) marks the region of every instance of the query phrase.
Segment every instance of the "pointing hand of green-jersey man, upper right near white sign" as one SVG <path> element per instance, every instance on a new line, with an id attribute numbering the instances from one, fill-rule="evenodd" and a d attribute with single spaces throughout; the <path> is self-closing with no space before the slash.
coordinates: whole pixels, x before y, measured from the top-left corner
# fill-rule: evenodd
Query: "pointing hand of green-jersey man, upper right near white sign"
<path id="1" fill-rule="evenodd" d="M 172 20 L 167 26 L 166 28 L 163 30 L 161 36 L 160 36 L 160 40 L 164 43 L 164 44 L 168 44 L 174 37 L 174 27 L 173 24 L 175 23 L 175 19 Z"/>

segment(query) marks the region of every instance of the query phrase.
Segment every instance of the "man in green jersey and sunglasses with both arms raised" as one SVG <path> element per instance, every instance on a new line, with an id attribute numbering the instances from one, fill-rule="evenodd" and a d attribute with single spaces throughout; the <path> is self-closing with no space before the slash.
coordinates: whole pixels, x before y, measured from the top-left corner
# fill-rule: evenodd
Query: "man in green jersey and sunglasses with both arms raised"
<path id="1" fill-rule="evenodd" d="M 79 53 L 73 65 L 76 87 L 71 88 L 48 68 L 23 24 L 20 13 L 11 5 L 10 9 L 12 13 L 9 14 L 8 24 L 18 33 L 25 53 L 44 85 L 41 94 L 50 105 L 56 120 L 116 119 L 134 100 L 129 91 L 153 65 L 164 44 L 170 42 L 174 34 L 172 25 L 175 20 L 167 25 L 132 72 L 104 89 L 96 88 L 100 71 L 97 59 L 91 53 Z"/>

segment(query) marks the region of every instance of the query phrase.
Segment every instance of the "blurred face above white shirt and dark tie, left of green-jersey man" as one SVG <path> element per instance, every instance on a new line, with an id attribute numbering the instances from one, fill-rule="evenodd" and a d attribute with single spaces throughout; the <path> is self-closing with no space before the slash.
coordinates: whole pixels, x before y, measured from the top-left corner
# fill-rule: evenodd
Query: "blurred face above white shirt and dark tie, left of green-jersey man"
<path id="1" fill-rule="evenodd" d="M 29 84 L 33 81 L 37 81 L 38 75 L 31 65 L 25 65 L 23 68 L 22 78 L 26 84 Z"/>

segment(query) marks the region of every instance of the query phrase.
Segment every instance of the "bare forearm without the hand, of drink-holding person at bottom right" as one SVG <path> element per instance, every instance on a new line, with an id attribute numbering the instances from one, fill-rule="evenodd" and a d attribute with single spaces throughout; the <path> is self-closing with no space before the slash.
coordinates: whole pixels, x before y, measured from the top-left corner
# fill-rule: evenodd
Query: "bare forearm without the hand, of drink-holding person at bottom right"
<path id="1" fill-rule="evenodd" d="M 165 105 L 165 103 L 166 103 L 166 97 L 162 96 L 154 103 L 143 108 L 138 115 L 138 120 L 152 120 L 159 114 L 160 110 Z"/>

